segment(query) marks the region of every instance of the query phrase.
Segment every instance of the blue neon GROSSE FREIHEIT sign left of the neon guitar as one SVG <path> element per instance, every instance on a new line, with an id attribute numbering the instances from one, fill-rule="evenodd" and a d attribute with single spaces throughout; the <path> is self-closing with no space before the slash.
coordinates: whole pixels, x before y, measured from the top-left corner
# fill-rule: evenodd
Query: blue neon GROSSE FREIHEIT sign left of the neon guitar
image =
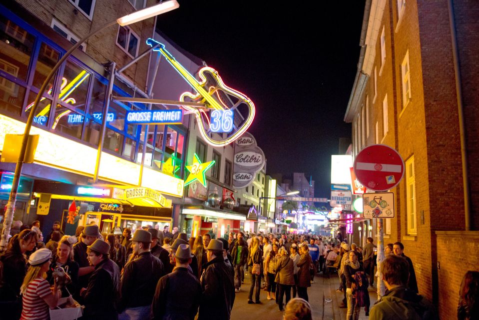
<path id="1" fill-rule="evenodd" d="M 178 124 L 183 122 L 183 110 L 134 110 L 126 112 L 126 122 L 136 124 Z"/>

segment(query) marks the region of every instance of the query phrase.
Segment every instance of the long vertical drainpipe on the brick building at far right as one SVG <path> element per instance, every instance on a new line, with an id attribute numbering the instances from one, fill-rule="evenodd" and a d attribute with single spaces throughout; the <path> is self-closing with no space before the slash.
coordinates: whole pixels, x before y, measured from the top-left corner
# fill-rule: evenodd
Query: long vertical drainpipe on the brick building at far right
<path id="1" fill-rule="evenodd" d="M 449 26 L 451 27 L 451 40 L 453 47 L 454 60 L 454 75 L 456 77 L 456 96 L 458 98 L 458 113 L 459 113 L 459 132 L 461 137 L 461 159 L 463 164 L 463 189 L 464 189 L 464 217 L 466 231 L 471 230 L 471 205 L 469 196 L 469 179 L 468 179 L 468 152 L 466 149 L 466 133 L 464 122 L 464 105 L 463 105 L 463 91 L 461 89 L 461 70 L 459 68 L 458 55 L 458 39 L 456 35 L 456 20 L 454 17 L 453 0 L 448 1 L 449 8 Z"/>

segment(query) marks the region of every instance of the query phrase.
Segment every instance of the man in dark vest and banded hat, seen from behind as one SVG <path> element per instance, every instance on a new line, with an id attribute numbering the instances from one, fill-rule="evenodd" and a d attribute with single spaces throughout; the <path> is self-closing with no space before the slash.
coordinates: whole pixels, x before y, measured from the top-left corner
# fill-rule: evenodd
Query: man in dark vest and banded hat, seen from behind
<path id="1" fill-rule="evenodd" d="M 193 320 L 201 298 L 201 285 L 188 270 L 191 259 L 188 244 L 179 244 L 173 272 L 161 277 L 151 304 L 152 319 Z M 180 302 L 181 301 L 181 302 Z"/>

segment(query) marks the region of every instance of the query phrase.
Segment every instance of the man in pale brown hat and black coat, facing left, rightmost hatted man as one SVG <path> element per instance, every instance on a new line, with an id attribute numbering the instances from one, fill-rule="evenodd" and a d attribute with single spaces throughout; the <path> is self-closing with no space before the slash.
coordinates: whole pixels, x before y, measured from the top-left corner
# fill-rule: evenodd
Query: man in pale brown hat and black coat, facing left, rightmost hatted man
<path id="1" fill-rule="evenodd" d="M 223 257 L 223 243 L 213 239 L 206 248 L 208 263 L 201 275 L 198 320 L 228 320 L 235 299 L 233 269 Z"/>

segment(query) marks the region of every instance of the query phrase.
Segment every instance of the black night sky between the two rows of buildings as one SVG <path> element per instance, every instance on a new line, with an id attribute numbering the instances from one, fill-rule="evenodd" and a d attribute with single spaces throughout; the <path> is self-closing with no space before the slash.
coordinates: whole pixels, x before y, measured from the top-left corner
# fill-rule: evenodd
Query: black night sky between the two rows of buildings
<path id="1" fill-rule="evenodd" d="M 178 0 L 158 28 L 256 105 L 267 173 L 305 172 L 330 196 L 331 154 L 356 75 L 364 0 Z"/>

